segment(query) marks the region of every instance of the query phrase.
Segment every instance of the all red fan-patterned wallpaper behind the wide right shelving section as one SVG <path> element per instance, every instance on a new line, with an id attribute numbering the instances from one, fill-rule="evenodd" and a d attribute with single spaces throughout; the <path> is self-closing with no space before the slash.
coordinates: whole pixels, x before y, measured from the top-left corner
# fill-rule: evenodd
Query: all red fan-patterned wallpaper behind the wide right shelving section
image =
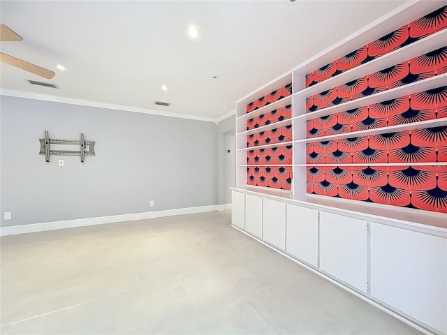
<path id="1" fill-rule="evenodd" d="M 309 73 L 306 86 L 446 27 L 444 6 Z M 310 96 L 307 112 L 442 73 L 447 73 L 447 47 Z M 306 137 L 318 141 L 322 136 L 434 119 L 447 121 L 447 86 L 309 119 Z M 434 165 L 446 162 L 447 126 L 309 142 L 307 193 L 447 213 L 447 165 Z M 389 165 L 395 163 L 402 165 Z"/>

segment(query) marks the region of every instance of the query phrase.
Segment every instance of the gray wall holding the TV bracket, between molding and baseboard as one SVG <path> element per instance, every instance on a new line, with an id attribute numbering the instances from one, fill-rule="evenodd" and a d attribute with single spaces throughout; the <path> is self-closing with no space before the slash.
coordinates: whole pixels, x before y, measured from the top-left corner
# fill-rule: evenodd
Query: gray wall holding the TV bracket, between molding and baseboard
<path id="1" fill-rule="evenodd" d="M 7 96 L 0 107 L 1 226 L 218 202 L 212 122 Z M 45 163 L 38 154 L 44 131 L 67 140 L 84 133 L 96 141 L 96 156 L 85 164 L 79 156 L 51 156 Z M 3 221 L 5 211 L 12 220 Z"/>

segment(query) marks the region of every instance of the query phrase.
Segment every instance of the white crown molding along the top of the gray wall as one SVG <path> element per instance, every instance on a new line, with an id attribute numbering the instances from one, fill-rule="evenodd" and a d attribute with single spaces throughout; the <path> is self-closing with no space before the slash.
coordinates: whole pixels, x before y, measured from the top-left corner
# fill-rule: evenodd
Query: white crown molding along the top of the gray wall
<path id="1" fill-rule="evenodd" d="M 196 121 L 217 122 L 219 118 L 199 117 L 191 114 L 179 114 L 174 112 L 161 112 L 159 110 L 151 110 L 149 108 L 133 107 L 126 105 L 115 105 L 114 103 L 102 103 L 99 101 L 89 101 L 78 98 L 68 98 L 65 96 L 52 96 L 50 94 L 41 94 L 29 91 L 18 91 L 15 89 L 0 89 L 1 96 L 13 96 L 15 98 L 34 99 L 42 101 L 52 101 L 54 103 L 67 103 L 70 105 L 81 105 L 89 107 L 107 108 L 109 110 L 124 110 L 126 112 L 136 112 L 143 114 L 160 115 L 162 117 L 177 117 L 179 119 L 190 119 Z M 225 114 L 224 114 L 225 115 Z"/>

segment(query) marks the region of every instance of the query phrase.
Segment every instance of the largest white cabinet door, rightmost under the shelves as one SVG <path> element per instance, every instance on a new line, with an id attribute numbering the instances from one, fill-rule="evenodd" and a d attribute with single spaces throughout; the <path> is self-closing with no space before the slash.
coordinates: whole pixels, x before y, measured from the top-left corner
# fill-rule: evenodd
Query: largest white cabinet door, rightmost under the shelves
<path id="1" fill-rule="evenodd" d="M 447 333 L 447 239 L 371 224 L 371 295 Z"/>

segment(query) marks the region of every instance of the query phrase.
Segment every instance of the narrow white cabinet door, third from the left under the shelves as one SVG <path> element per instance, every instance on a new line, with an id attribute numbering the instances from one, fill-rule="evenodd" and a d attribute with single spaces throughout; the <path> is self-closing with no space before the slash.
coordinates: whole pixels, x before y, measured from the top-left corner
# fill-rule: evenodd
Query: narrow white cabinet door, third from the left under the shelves
<path id="1" fill-rule="evenodd" d="M 263 239 L 278 248 L 286 248 L 286 204 L 264 199 Z"/>

